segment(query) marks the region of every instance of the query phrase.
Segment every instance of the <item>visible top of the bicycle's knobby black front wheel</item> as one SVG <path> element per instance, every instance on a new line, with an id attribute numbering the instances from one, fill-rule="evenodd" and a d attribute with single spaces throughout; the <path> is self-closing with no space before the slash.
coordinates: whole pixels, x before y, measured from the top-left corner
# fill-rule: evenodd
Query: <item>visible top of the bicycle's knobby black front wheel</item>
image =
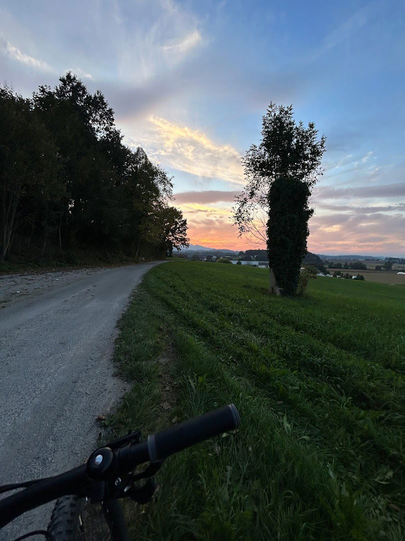
<path id="1" fill-rule="evenodd" d="M 102 504 L 65 496 L 56 500 L 48 532 L 55 541 L 112 541 L 109 520 Z"/>

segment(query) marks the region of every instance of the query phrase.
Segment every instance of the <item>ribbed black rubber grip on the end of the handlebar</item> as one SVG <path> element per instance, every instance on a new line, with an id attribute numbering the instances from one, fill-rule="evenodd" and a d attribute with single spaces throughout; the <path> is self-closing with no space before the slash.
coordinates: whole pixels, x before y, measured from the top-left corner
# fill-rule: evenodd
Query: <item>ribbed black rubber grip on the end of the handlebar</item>
<path id="1" fill-rule="evenodd" d="M 200 441 L 219 436 L 240 423 L 239 412 L 234 404 L 222 406 L 171 428 L 165 428 L 147 438 L 152 462 L 163 460 Z"/>

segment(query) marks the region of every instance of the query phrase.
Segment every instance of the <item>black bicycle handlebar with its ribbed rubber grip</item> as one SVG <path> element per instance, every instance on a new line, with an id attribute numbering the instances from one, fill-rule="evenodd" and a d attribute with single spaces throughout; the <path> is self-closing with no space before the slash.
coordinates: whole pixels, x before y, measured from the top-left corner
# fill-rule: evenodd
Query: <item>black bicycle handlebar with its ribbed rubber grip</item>
<path id="1" fill-rule="evenodd" d="M 0 500 L 0 529 L 20 514 L 35 507 L 68 494 L 83 496 L 87 489 L 91 489 L 102 479 L 113 479 L 118 472 L 129 473 L 147 461 L 153 463 L 164 460 L 186 447 L 213 436 L 219 436 L 227 430 L 233 430 L 239 423 L 238 410 L 234 404 L 230 404 L 152 434 L 148 436 L 147 441 L 129 443 L 114 451 L 109 447 L 103 447 L 92 453 L 87 464 L 56 477 L 40 480 Z M 100 456 L 103 459 L 98 465 L 99 458 L 98 460 L 96 458 Z M 106 462 L 108 462 L 107 469 L 105 469 Z"/>

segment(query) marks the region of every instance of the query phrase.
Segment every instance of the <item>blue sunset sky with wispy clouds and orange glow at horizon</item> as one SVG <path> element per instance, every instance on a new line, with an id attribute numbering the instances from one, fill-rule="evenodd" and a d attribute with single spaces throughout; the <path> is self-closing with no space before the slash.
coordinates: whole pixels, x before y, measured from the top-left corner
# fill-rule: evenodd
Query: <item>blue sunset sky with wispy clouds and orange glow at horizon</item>
<path id="1" fill-rule="evenodd" d="M 404 59 L 402 0 L 0 2 L 0 83 L 28 96 L 71 70 L 102 90 L 212 248 L 262 247 L 230 217 L 273 101 L 327 137 L 308 249 L 405 256 Z"/>

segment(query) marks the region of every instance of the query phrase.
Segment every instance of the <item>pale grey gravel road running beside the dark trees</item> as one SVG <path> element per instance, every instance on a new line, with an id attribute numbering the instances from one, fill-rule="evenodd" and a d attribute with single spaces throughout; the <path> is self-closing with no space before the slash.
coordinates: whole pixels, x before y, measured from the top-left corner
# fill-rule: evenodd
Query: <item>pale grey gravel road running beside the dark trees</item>
<path id="1" fill-rule="evenodd" d="M 0 485 L 57 474 L 93 450 L 97 416 L 125 392 L 111 362 L 117 320 L 157 264 L 0 278 Z M 0 539 L 46 529 L 51 510 L 26 513 Z"/>

